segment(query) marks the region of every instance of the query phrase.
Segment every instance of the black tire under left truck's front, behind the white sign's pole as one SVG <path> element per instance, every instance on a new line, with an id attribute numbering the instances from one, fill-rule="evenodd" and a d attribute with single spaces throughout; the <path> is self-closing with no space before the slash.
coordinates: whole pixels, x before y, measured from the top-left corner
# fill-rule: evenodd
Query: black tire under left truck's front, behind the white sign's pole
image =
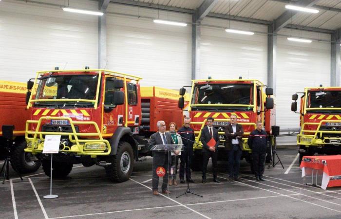
<path id="1" fill-rule="evenodd" d="M 74 164 L 63 163 L 63 162 L 55 162 L 53 161 L 52 168 L 52 178 L 64 178 L 72 170 Z M 51 161 L 50 160 L 42 160 L 42 167 L 46 176 L 51 177 Z"/>

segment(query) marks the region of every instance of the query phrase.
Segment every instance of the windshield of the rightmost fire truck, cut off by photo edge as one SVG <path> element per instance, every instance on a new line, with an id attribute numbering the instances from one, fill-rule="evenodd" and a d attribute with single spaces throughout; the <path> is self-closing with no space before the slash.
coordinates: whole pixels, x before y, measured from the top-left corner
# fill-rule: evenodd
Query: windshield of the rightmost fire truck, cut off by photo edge
<path id="1" fill-rule="evenodd" d="M 341 91 L 308 91 L 307 108 L 341 108 Z"/>

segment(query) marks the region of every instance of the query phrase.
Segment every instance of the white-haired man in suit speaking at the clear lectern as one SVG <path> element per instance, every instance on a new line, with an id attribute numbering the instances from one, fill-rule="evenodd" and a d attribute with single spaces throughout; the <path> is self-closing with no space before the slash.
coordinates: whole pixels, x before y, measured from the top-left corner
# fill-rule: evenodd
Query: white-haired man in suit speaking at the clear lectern
<path id="1" fill-rule="evenodd" d="M 155 145 L 171 145 L 172 140 L 169 132 L 166 132 L 166 124 L 164 121 L 158 121 L 156 123 L 158 128 L 158 132 L 155 132 L 151 135 L 150 147 L 152 148 Z M 159 195 L 158 186 L 159 186 L 159 176 L 156 174 L 156 168 L 162 166 L 166 170 L 166 174 L 163 176 L 162 180 L 162 193 L 170 194 L 170 191 L 167 189 L 168 183 L 168 170 L 171 165 L 170 153 L 165 151 L 153 151 L 153 164 L 152 164 L 152 191 L 153 195 Z"/>

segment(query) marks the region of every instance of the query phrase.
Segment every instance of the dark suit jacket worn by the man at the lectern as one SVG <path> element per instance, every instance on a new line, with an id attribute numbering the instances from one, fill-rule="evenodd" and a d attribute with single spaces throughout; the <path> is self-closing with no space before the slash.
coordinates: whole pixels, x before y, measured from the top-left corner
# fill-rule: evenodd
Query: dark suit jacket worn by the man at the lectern
<path id="1" fill-rule="evenodd" d="M 167 145 L 173 144 L 170 133 L 165 132 L 165 136 L 166 136 L 166 141 L 167 141 L 166 144 Z M 152 148 L 155 145 L 163 145 L 159 132 L 155 132 L 154 134 L 151 135 L 150 148 Z M 153 151 L 153 164 L 159 165 L 159 166 L 165 164 L 166 155 L 168 155 L 168 162 L 171 164 L 171 158 L 170 158 L 169 152 Z"/>

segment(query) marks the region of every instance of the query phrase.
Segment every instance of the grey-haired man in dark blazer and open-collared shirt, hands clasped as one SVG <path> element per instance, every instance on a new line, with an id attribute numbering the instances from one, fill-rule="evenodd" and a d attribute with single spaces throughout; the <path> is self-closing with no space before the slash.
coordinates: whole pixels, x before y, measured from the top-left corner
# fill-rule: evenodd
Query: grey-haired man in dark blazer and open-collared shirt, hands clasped
<path id="1" fill-rule="evenodd" d="M 237 116 L 230 116 L 230 123 L 225 127 L 225 149 L 228 150 L 228 182 L 231 183 L 233 180 L 242 182 L 238 178 L 240 157 L 242 156 L 244 134 L 243 126 L 237 124 Z"/>

